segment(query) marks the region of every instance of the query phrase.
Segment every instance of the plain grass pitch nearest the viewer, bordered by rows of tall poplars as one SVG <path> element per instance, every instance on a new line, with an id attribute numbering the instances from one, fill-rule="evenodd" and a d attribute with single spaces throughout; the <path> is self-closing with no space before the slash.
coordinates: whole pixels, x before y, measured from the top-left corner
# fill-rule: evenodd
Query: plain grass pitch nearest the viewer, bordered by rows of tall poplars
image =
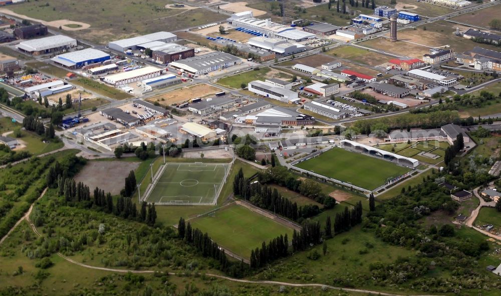
<path id="1" fill-rule="evenodd" d="M 261 247 L 263 241 L 268 243 L 285 234 L 291 241 L 293 233 L 293 229 L 237 204 L 189 222 L 222 247 L 245 258 L 250 257 L 250 251 Z"/>

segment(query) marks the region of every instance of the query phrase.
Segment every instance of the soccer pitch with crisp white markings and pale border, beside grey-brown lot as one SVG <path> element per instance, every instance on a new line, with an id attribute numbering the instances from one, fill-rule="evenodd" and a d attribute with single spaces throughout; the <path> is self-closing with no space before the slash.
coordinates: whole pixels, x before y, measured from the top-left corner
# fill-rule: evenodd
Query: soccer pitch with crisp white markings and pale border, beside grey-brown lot
<path id="1" fill-rule="evenodd" d="M 215 203 L 229 165 L 166 164 L 161 176 L 146 197 L 149 203 L 207 204 Z"/>

